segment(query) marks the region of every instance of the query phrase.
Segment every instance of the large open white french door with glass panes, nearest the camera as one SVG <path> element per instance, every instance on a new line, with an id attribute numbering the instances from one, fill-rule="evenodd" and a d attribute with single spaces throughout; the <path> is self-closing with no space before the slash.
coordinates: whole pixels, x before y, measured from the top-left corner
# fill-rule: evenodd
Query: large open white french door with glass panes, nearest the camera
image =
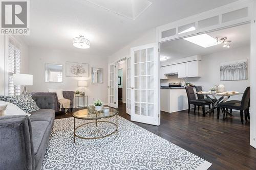
<path id="1" fill-rule="evenodd" d="M 157 43 L 131 48 L 132 121 L 160 125 L 159 68 Z"/>

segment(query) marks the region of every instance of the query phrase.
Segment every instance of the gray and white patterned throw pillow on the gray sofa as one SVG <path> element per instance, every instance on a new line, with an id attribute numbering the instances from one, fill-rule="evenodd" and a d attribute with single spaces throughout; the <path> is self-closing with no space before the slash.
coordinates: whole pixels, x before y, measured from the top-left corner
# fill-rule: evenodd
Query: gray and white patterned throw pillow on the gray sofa
<path id="1" fill-rule="evenodd" d="M 40 108 L 36 105 L 35 101 L 30 94 L 21 95 L 10 95 L 5 96 L 6 102 L 13 103 L 20 109 L 24 110 L 26 113 L 31 113 L 39 110 Z"/>

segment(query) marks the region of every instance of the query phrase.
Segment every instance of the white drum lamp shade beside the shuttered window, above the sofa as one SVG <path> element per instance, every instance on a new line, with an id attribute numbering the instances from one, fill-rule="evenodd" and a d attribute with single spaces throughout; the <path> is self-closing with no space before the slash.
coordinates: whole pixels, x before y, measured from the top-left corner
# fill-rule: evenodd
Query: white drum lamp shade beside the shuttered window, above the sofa
<path id="1" fill-rule="evenodd" d="M 32 86 L 33 75 L 13 74 L 13 85 Z"/>

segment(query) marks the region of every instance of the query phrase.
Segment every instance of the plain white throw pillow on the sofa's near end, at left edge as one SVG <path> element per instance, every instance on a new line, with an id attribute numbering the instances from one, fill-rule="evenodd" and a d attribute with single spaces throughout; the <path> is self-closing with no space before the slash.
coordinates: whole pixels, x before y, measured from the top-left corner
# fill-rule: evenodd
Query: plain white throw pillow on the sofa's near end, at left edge
<path id="1" fill-rule="evenodd" d="M 6 105 L 7 104 L 7 107 L 6 107 L 6 110 L 4 112 L 4 115 L 5 116 L 10 116 L 10 115 L 28 115 L 30 116 L 31 114 L 29 113 L 26 113 L 25 111 L 23 111 L 22 109 L 20 109 L 18 106 L 10 103 L 10 102 L 4 102 L 4 101 L 0 101 L 0 106 L 2 105 Z"/>

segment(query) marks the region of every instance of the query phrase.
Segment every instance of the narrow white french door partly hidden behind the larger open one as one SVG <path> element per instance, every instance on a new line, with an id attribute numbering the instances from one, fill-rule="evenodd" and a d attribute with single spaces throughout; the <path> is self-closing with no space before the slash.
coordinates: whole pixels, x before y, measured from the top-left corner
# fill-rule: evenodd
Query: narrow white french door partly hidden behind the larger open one
<path id="1" fill-rule="evenodd" d="M 131 115 L 131 57 L 126 58 L 126 113 Z"/>

